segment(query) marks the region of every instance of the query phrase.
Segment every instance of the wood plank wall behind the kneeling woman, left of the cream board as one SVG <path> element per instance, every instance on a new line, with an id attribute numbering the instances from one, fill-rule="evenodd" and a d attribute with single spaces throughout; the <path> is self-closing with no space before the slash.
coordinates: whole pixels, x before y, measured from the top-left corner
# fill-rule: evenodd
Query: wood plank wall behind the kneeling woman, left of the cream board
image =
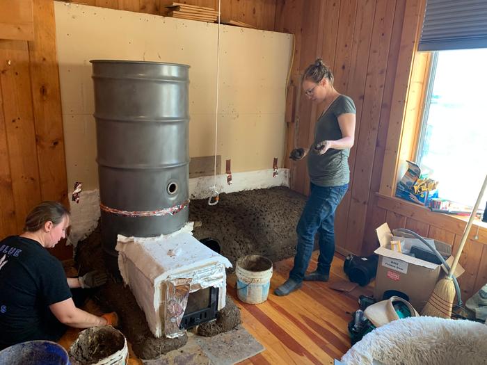
<path id="1" fill-rule="evenodd" d="M 4 1 L 2 6 L 9 6 Z M 42 200 L 67 205 L 54 6 L 33 0 L 33 40 L 0 40 L 0 236 Z M 64 242 L 53 251 L 72 257 Z"/>

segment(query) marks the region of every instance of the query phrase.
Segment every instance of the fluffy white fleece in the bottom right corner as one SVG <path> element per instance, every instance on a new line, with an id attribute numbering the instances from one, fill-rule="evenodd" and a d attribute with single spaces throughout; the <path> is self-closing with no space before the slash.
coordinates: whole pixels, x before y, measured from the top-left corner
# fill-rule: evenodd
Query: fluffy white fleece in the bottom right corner
<path id="1" fill-rule="evenodd" d="M 487 325 L 436 317 L 393 321 L 365 335 L 342 357 L 346 365 L 487 364 Z"/>

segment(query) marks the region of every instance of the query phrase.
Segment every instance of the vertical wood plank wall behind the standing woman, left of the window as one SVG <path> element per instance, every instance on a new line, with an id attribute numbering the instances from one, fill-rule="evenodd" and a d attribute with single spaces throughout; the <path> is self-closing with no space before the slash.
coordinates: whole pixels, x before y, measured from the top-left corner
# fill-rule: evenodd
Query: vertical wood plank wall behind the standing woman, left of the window
<path id="1" fill-rule="evenodd" d="M 419 1 L 412 0 L 290 0 L 278 3 L 276 30 L 296 35 L 292 86 L 298 102 L 289 138 L 308 147 L 321 107 L 303 97 L 300 75 L 321 57 L 335 74 L 335 88 L 356 104 L 355 145 L 349 159 L 349 191 L 337 209 L 337 245 L 360 253 L 367 213 L 378 191 L 387 136 L 399 46 L 405 17 L 417 16 Z M 298 16 L 301 14 L 301 16 Z M 416 24 L 414 22 L 413 24 Z M 414 31 L 410 32 L 414 40 Z M 292 135 L 294 131 L 294 136 Z M 303 162 L 290 163 L 292 187 L 308 193 Z"/>

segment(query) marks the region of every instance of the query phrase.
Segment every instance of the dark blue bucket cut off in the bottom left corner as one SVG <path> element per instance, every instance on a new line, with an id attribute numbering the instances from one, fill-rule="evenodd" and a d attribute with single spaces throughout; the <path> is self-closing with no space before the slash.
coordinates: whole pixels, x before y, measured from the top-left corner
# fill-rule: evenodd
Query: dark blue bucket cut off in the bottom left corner
<path id="1" fill-rule="evenodd" d="M 63 346 L 52 341 L 27 341 L 0 351 L 0 364 L 9 365 L 70 365 Z"/>

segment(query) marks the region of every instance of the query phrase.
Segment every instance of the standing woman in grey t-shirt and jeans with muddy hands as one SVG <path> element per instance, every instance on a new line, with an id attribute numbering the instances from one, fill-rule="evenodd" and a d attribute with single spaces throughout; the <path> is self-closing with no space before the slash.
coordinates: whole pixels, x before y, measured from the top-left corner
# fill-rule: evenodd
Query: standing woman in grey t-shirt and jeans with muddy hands
<path id="1" fill-rule="evenodd" d="M 335 210 L 349 187 L 349 154 L 355 133 L 356 108 L 353 100 L 333 87 L 333 74 L 321 58 L 310 65 L 301 86 L 312 102 L 324 109 L 314 127 L 314 141 L 309 149 L 294 149 L 290 158 L 308 156 L 310 196 L 296 227 L 298 244 L 289 279 L 274 293 L 287 295 L 301 288 L 303 280 L 327 282 L 335 253 Z M 305 275 L 319 234 L 317 270 Z"/>

